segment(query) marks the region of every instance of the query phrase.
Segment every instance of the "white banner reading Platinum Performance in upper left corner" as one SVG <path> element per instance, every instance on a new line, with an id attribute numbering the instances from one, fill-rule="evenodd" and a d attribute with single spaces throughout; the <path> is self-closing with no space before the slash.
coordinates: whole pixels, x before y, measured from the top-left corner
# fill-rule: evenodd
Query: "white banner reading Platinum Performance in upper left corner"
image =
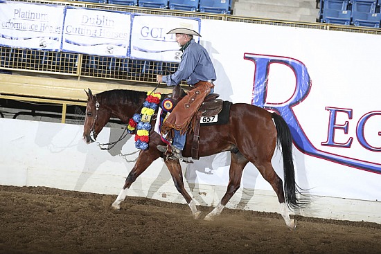
<path id="1" fill-rule="evenodd" d="M 64 6 L 0 2 L 0 46 L 59 51 Z"/>

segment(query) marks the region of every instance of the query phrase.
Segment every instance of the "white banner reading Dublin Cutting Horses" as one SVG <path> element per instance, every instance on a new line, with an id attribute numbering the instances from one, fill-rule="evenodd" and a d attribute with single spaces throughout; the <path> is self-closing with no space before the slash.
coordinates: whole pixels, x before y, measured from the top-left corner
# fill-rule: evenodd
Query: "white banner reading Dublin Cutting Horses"
<path id="1" fill-rule="evenodd" d="M 127 57 L 131 16 L 86 8 L 67 8 L 62 51 Z"/>

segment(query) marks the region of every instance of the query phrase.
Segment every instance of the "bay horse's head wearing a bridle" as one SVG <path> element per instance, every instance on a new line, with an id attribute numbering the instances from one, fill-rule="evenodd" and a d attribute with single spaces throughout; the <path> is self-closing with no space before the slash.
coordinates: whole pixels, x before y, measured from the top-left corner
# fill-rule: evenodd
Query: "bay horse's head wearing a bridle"
<path id="1" fill-rule="evenodd" d="M 96 141 L 96 137 L 109 121 L 110 114 L 104 105 L 100 105 L 100 102 L 91 93 L 90 89 L 89 92 L 85 92 L 87 94 L 87 105 L 82 139 L 89 144 Z"/>

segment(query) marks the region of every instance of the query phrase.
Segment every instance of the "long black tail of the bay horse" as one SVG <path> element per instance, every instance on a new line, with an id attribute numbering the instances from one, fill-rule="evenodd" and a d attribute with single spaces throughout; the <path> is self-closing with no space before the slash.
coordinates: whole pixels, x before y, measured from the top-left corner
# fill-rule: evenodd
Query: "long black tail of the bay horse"
<path id="1" fill-rule="evenodd" d="M 284 191 L 285 201 L 290 208 L 302 208 L 308 202 L 297 197 L 301 194 L 299 186 L 295 182 L 294 160 L 292 159 L 292 135 L 282 116 L 272 113 L 274 119 L 278 147 L 282 148 L 283 171 L 284 171 Z"/>

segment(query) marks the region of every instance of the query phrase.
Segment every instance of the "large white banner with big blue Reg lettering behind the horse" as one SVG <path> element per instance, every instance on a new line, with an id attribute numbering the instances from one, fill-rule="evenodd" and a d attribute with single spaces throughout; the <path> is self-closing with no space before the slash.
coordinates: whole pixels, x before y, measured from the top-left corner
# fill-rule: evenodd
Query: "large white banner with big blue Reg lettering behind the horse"
<path id="1" fill-rule="evenodd" d="M 380 35 L 215 20 L 202 20 L 201 32 L 217 72 L 215 92 L 285 118 L 301 188 L 381 200 L 381 87 L 374 74 Z M 189 165 L 187 174 L 197 183 L 227 184 L 229 160 L 218 154 Z M 283 176 L 280 152 L 273 165 Z M 272 190 L 251 163 L 241 186 Z"/>

